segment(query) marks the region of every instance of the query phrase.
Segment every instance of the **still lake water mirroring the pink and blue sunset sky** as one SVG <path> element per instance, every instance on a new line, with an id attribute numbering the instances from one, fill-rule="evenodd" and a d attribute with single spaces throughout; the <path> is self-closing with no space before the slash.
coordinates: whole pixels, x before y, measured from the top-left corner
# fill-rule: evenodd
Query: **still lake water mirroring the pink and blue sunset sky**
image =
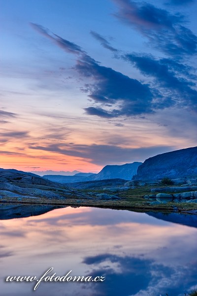
<path id="1" fill-rule="evenodd" d="M 179 296 L 197 287 L 197 228 L 191 215 L 51 207 L 16 219 L 16 211 L 6 209 L 0 212 L 2 296 Z M 50 275 L 71 270 L 73 276 L 105 280 L 41 282 L 36 291 L 36 282 L 4 280 L 40 278 L 50 267 Z"/>

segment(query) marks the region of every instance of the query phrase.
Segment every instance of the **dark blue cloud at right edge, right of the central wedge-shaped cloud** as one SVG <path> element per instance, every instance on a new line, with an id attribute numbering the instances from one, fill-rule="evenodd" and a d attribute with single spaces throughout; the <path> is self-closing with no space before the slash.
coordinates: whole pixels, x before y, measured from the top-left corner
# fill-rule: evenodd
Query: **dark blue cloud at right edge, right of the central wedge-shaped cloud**
<path id="1" fill-rule="evenodd" d="M 142 74 L 151 76 L 153 88 L 157 86 L 158 97 L 155 108 L 173 105 L 187 106 L 196 110 L 197 91 L 193 79 L 193 68 L 172 59 L 155 59 L 153 56 L 128 54 L 124 58 L 131 62 Z M 153 90 L 152 90 L 153 92 Z M 163 98 L 163 99 L 162 99 Z"/>

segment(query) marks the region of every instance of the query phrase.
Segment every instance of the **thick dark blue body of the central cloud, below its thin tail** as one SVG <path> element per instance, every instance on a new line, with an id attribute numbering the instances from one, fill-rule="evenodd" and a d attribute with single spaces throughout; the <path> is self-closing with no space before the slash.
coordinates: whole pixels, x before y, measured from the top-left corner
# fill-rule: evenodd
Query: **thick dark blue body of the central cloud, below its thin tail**
<path id="1" fill-rule="evenodd" d="M 98 62 L 85 55 L 77 60 L 75 69 L 84 77 L 90 77 L 94 84 L 84 88 L 89 97 L 99 104 L 117 105 L 116 109 L 103 110 L 88 108 L 88 114 L 101 117 L 131 116 L 142 113 L 152 113 L 153 95 L 146 84 L 132 79 L 111 68 L 100 66 Z"/>

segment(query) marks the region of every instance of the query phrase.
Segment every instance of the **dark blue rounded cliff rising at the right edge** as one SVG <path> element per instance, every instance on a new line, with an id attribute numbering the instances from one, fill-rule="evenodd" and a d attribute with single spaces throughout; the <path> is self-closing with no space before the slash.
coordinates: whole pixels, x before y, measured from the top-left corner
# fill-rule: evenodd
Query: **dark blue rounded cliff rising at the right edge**
<path id="1" fill-rule="evenodd" d="M 197 147 L 150 157 L 137 169 L 137 180 L 160 180 L 197 175 Z"/>

